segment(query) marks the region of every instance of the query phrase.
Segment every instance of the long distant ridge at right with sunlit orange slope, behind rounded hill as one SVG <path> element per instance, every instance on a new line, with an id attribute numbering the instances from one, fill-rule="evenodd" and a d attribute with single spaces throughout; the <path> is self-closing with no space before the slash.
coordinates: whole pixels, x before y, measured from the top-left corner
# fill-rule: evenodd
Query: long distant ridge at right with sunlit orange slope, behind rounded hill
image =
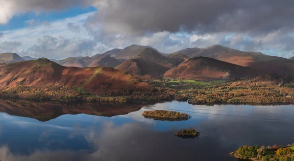
<path id="1" fill-rule="evenodd" d="M 204 56 L 224 62 L 264 70 L 266 73 L 294 74 L 294 61 L 263 54 L 261 52 L 240 51 L 221 45 L 206 48 L 186 48 L 173 54 L 181 53 L 191 58 Z"/>

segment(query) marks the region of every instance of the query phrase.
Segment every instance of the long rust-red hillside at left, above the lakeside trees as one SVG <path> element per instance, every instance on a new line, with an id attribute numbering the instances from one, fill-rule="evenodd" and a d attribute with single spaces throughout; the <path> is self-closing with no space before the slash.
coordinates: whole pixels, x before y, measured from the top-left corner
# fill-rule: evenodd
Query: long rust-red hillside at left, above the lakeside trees
<path id="1" fill-rule="evenodd" d="M 92 92 L 148 86 L 121 70 L 110 67 L 63 67 L 46 58 L 1 65 L 0 88 L 17 85 L 83 87 Z"/>

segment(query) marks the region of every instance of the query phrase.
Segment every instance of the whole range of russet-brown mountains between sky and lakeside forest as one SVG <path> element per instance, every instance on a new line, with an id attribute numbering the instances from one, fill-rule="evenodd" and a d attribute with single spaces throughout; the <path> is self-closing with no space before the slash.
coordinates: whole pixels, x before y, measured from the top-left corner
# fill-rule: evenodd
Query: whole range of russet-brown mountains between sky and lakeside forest
<path id="1" fill-rule="evenodd" d="M 3 53 L 0 54 L 0 67 L 2 87 L 22 82 L 25 85 L 37 86 L 83 86 L 88 90 L 97 91 L 95 89 L 100 87 L 88 87 L 86 82 L 91 84 L 92 79 L 97 78 L 93 75 L 98 71 L 108 73 L 107 76 L 97 75 L 114 84 L 111 88 L 119 87 L 116 85 L 120 81 L 121 85 L 135 87 L 145 86 L 138 78 L 215 80 L 254 77 L 267 73 L 294 75 L 294 58 L 286 59 L 261 52 L 240 51 L 221 45 L 186 48 L 170 54 L 161 53 L 150 46 L 131 45 L 92 57 L 71 57 L 63 60 L 35 60 L 29 56 L 20 57 L 16 53 Z M 124 73 L 124 77 L 108 79 L 111 75 L 118 76 L 118 73 Z M 136 84 L 126 83 L 130 78 Z M 101 79 L 95 79 L 95 82 L 102 83 Z"/>

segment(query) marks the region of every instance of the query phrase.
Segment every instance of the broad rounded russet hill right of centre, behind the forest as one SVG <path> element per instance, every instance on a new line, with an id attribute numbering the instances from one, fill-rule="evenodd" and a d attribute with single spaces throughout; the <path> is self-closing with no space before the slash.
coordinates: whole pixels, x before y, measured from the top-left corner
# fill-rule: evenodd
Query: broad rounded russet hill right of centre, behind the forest
<path id="1" fill-rule="evenodd" d="M 219 61 L 208 57 L 195 57 L 168 70 L 165 78 L 195 80 L 233 79 L 257 76 L 260 72 L 247 67 Z"/>

